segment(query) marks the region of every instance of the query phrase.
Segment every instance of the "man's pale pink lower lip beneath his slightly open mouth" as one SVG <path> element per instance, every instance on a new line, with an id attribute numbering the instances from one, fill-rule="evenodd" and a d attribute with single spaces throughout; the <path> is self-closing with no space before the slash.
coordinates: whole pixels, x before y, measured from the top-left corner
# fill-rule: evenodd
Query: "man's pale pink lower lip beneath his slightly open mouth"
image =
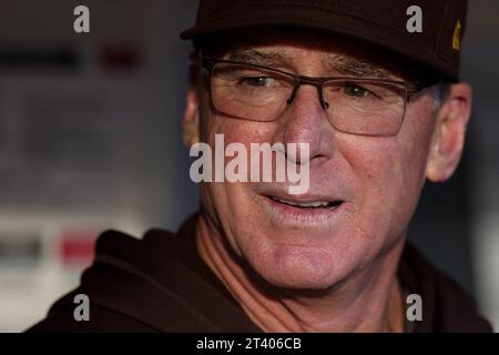
<path id="1" fill-rule="evenodd" d="M 334 209 L 302 209 L 279 203 L 269 196 L 262 195 L 272 213 L 279 220 L 298 223 L 320 223 L 330 221 L 344 210 L 345 202 Z"/>

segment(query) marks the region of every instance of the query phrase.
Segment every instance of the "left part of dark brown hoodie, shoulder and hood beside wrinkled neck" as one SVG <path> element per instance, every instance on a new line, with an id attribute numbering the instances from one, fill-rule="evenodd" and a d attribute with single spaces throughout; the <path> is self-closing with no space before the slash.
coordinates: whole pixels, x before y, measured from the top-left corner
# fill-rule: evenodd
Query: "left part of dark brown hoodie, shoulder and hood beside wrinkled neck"
<path id="1" fill-rule="evenodd" d="M 80 286 L 28 332 L 254 331 L 198 257 L 194 230 L 191 219 L 177 233 L 152 229 L 142 240 L 102 233 Z M 89 297 L 89 322 L 75 321 L 78 294 Z"/>

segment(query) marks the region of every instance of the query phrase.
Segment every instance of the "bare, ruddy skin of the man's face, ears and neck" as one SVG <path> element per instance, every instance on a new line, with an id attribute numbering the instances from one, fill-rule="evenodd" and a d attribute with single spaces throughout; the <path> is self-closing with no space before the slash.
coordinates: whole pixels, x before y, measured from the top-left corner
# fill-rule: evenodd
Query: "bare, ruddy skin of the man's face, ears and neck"
<path id="1" fill-rule="evenodd" d="M 394 80 L 410 79 L 389 53 L 332 34 L 265 30 L 236 33 L 221 49 L 277 51 L 283 70 L 329 77 L 327 55 L 383 63 Z M 223 133 L 225 144 L 309 144 L 310 187 L 287 195 L 276 183 L 204 183 L 196 243 L 201 257 L 249 318 L 266 332 L 401 332 L 403 297 L 396 271 L 407 226 L 426 179 L 442 182 L 455 172 L 471 110 L 471 89 L 450 87 L 438 111 L 434 91 L 407 105 L 396 135 L 361 136 L 335 130 L 317 91 L 299 89 L 272 122 L 235 120 L 210 106 L 204 71 L 195 57 L 186 97 L 184 140 L 191 146 Z M 306 163 L 299 160 L 296 163 Z M 334 211 L 282 209 L 267 195 L 293 201 L 342 200 Z"/>

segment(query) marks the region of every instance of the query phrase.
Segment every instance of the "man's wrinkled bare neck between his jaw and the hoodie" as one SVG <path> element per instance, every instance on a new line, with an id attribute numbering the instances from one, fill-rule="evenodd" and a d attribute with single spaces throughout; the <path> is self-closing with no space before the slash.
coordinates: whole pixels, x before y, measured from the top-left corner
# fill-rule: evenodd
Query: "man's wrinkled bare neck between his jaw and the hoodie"
<path id="1" fill-rule="evenodd" d="M 264 332 L 403 332 L 396 271 L 404 239 L 374 265 L 327 291 L 282 290 L 265 283 L 228 251 L 223 233 L 200 215 L 196 245 L 207 266 Z"/>

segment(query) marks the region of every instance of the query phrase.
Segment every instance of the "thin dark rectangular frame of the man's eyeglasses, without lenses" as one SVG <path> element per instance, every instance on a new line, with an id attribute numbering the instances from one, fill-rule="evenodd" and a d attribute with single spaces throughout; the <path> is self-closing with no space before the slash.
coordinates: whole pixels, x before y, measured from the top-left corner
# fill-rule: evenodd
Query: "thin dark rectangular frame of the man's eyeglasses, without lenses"
<path id="1" fill-rule="evenodd" d="M 293 104 L 293 101 L 296 97 L 296 93 L 298 92 L 299 88 L 302 85 L 312 85 L 317 90 L 317 94 L 319 98 L 319 103 L 320 106 L 323 108 L 323 110 L 327 110 L 329 108 L 329 104 L 324 100 L 324 95 L 323 95 L 323 91 L 324 91 L 324 84 L 328 81 L 334 81 L 334 80 L 352 80 L 352 81 L 358 81 L 358 80 L 367 80 L 369 82 L 374 82 L 374 83 L 381 83 L 381 84 L 395 84 L 395 85 L 400 85 L 405 89 L 406 92 L 406 102 L 410 102 L 410 98 L 414 97 L 415 94 L 421 92 L 425 89 L 428 89 L 430 87 L 434 87 L 436 84 L 438 84 L 439 82 L 441 82 L 441 78 L 434 75 L 434 77 L 426 77 L 425 79 L 420 80 L 420 81 L 401 81 L 401 80 L 390 80 L 390 79 L 381 79 L 381 78 L 363 78 L 363 77 L 324 77 L 324 78 L 314 78 L 314 77 L 307 77 L 307 75 L 302 75 L 302 74 L 295 74 L 295 73 L 291 73 L 287 71 L 283 71 L 279 69 L 273 69 L 266 65 L 261 65 L 261 64 L 255 64 L 255 63 L 249 63 L 249 62 L 241 62 L 241 61 L 232 61 L 232 60 L 224 60 L 224 59 L 213 59 L 210 58 L 205 54 L 203 54 L 201 51 L 198 53 L 200 60 L 201 60 L 201 64 L 204 69 L 206 69 L 208 71 L 208 85 L 210 85 L 210 101 L 211 101 L 211 106 L 213 110 L 215 110 L 217 113 L 222 113 L 222 114 L 227 114 L 226 112 L 221 112 L 214 104 L 213 102 L 213 85 L 212 85 L 212 75 L 213 75 L 213 69 L 215 68 L 216 64 L 218 63 L 225 63 L 225 64 L 235 64 L 235 65 L 248 65 L 251 68 L 255 68 L 255 69 L 262 69 L 262 70 L 266 70 L 266 71 L 271 71 L 271 72 L 275 72 L 278 73 L 281 75 L 285 75 L 287 78 L 289 78 L 293 81 L 293 91 L 292 94 L 289 97 L 289 99 L 286 100 L 286 104 L 291 105 Z M 401 128 L 401 125 L 404 124 L 404 120 L 405 120 L 405 115 L 406 115 L 406 110 L 407 110 L 407 104 L 405 104 L 404 108 L 404 115 L 401 118 L 401 122 L 400 122 L 400 126 L 399 130 Z M 278 116 L 275 120 L 271 120 L 271 121 L 259 121 L 259 120 L 251 120 L 251 119 L 243 119 L 243 118 L 238 118 L 238 116 L 234 116 L 234 119 L 240 119 L 240 120 L 246 120 L 246 121 L 255 121 L 255 122 L 271 122 L 271 121 L 275 121 L 278 120 Z M 363 133 L 348 133 L 348 134 L 354 134 L 354 135 L 378 135 L 378 134 L 363 134 Z M 396 133 L 394 133 L 396 134 Z"/>

